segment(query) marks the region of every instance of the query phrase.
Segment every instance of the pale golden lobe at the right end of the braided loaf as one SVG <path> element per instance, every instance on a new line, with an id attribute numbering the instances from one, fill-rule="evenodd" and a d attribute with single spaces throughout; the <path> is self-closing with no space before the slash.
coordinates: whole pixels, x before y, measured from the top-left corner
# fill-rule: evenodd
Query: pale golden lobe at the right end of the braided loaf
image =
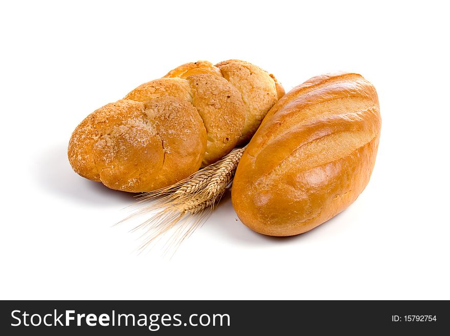
<path id="1" fill-rule="evenodd" d="M 242 96 L 246 117 L 239 143 L 246 142 L 253 136 L 267 111 L 278 100 L 275 80 L 258 66 L 237 59 L 223 61 L 215 66 Z"/>

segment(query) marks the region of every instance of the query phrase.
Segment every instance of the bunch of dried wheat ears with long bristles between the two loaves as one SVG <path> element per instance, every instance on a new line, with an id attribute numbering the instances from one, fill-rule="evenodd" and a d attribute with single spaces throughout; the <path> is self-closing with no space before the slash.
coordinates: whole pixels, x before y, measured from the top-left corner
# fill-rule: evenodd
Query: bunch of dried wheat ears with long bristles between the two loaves
<path id="1" fill-rule="evenodd" d="M 175 247 L 175 251 L 212 213 L 232 182 L 244 150 L 245 147 L 235 149 L 220 161 L 198 170 L 182 181 L 140 195 L 140 209 L 124 219 L 151 212 L 146 221 L 132 230 L 144 229 L 141 236 L 143 243 L 138 250 L 142 252 L 156 238 L 178 225 L 166 243 L 166 253 L 172 247 Z M 207 209 L 210 211 L 207 212 Z"/>

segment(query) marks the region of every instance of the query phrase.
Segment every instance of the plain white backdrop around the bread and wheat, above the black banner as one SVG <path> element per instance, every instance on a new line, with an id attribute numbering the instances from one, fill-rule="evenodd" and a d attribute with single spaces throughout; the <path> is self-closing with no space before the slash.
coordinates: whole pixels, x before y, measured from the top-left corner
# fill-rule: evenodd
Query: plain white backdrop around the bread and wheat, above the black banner
<path id="1" fill-rule="evenodd" d="M 445 2 L 7 2 L 0 10 L 1 299 L 450 299 Z M 345 70 L 377 88 L 371 181 L 309 233 L 247 229 L 227 195 L 172 259 L 133 252 L 132 195 L 75 174 L 91 111 L 196 60 L 286 91 Z"/>

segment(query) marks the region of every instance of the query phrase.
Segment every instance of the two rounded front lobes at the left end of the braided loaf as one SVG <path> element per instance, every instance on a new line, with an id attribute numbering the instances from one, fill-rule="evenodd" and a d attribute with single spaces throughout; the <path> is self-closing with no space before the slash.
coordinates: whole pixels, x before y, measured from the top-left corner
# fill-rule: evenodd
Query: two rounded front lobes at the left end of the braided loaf
<path id="1" fill-rule="evenodd" d="M 143 192 L 195 172 L 205 147 L 206 129 L 189 102 L 163 97 L 144 110 L 142 102 L 119 100 L 75 129 L 69 161 L 81 176 L 108 188 Z"/>

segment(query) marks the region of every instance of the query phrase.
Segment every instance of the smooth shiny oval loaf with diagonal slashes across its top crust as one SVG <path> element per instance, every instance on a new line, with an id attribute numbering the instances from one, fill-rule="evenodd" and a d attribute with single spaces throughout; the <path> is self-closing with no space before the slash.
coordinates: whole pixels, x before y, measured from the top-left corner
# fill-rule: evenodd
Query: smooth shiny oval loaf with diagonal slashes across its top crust
<path id="1" fill-rule="evenodd" d="M 329 74 L 293 88 L 245 149 L 232 203 L 249 228 L 296 235 L 346 209 L 369 182 L 381 119 L 361 75 Z"/>

